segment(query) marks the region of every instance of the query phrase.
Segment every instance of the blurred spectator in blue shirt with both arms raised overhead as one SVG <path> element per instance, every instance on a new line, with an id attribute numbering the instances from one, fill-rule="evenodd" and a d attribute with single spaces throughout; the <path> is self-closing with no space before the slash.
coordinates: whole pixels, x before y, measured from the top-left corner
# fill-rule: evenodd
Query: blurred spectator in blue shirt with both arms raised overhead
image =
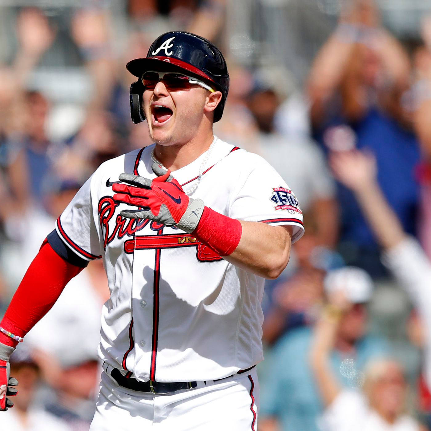
<path id="1" fill-rule="evenodd" d="M 404 229 L 414 234 L 419 188 L 413 171 L 419 146 L 411 107 L 402 103 L 409 73 L 409 59 L 380 26 L 374 2 L 354 0 L 344 3 L 337 29 L 316 56 L 309 97 L 316 139 L 325 150 L 372 148 L 384 195 Z M 378 247 L 356 200 L 342 186 L 338 198 L 344 258 L 374 276 L 384 275 Z"/>

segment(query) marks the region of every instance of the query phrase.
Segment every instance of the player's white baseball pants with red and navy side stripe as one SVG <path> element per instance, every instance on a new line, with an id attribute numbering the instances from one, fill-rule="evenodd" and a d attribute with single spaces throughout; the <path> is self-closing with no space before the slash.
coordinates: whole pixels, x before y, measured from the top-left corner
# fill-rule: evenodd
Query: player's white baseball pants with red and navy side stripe
<path id="1" fill-rule="evenodd" d="M 103 372 L 90 431 L 257 431 L 258 405 L 256 368 L 166 395 L 127 389 Z"/>

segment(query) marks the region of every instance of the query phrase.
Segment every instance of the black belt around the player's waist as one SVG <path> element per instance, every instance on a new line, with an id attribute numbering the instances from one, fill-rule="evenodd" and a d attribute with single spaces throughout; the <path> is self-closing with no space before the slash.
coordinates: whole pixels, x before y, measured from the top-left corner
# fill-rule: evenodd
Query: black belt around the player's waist
<path id="1" fill-rule="evenodd" d="M 237 374 L 245 373 L 252 368 L 254 368 L 256 365 L 253 365 L 250 368 L 247 368 L 245 370 L 240 370 L 237 372 Z M 225 378 L 233 377 L 234 374 L 228 377 L 219 378 L 217 380 L 213 381 L 220 381 Z M 139 392 L 151 392 L 153 394 L 171 394 L 172 392 L 176 392 L 177 390 L 182 389 L 194 389 L 197 387 L 196 381 L 178 381 L 173 383 L 161 383 L 158 381 L 139 381 L 136 380 L 134 377 L 127 378 L 123 376 L 119 369 L 112 369 L 111 371 L 111 377 L 120 385 L 123 387 L 126 387 L 127 389 L 131 390 L 137 390 Z"/>

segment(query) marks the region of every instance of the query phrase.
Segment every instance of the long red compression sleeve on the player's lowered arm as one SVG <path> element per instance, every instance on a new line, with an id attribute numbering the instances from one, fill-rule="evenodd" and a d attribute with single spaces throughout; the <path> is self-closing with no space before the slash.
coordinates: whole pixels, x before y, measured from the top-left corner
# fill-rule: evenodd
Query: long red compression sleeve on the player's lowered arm
<path id="1" fill-rule="evenodd" d="M 82 269 L 62 259 L 45 240 L 13 295 L 0 326 L 24 337 L 51 309 L 71 278 Z M 0 342 L 12 347 L 18 344 L 2 332 Z"/>

